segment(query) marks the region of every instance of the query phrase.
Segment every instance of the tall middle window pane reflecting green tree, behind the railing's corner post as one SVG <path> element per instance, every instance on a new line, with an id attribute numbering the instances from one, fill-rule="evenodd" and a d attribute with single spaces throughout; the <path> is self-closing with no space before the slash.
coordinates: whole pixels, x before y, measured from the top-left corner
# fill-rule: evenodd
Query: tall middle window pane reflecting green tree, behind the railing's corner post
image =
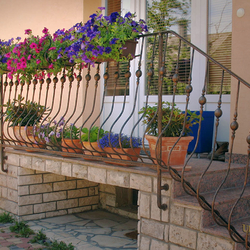
<path id="1" fill-rule="evenodd" d="M 174 30 L 181 36 L 190 40 L 190 22 L 191 22 L 191 2 L 190 0 L 147 0 L 147 24 L 150 32 Z M 158 41 L 156 41 L 157 43 Z M 147 39 L 147 70 L 150 68 L 152 60 L 152 48 L 154 39 Z M 163 94 L 173 94 L 172 77 L 175 73 L 177 64 L 177 51 L 179 39 L 175 37 L 168 38 L 168 49 L 166 54 L 166 76 L 163 82 Z M 150 83 L 147 92 L 151 95 L 158 94 L 158 44 L 155 51 L 154 77 Z M 188 83 L 190 73 L 190 48 L 182 46 L 179 58 L 179 82 L 176 94 L 185 94 L 185 87 Z"/>

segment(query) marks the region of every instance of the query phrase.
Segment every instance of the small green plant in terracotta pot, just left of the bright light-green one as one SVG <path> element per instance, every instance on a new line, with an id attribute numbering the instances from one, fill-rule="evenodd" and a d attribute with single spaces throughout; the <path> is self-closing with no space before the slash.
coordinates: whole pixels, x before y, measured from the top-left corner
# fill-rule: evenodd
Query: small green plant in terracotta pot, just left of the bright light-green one
<path id="1" fill-rule="evenodd" d="M 79 138 L 80 130 L 74 124 L 63 127 L 62 151 L 71 153 L 82 153 L 82 144 Z M 65 156 L 65 155 L 63 155 Z"/>

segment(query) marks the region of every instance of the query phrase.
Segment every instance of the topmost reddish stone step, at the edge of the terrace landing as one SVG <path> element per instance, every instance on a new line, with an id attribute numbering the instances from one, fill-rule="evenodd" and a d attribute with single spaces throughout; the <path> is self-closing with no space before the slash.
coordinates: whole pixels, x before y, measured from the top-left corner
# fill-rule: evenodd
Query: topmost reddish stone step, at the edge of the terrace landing
<path id="1" fill-rule="evenodd" d="M 188 162 L 187 165 L 192 166 L 191 171 L 184 173 L 184 179 L 188 181 L 192 187 L 196 190 L 198 183 L 201 179 L 202 174 L 206 171 L 207 166 L 210 161 L 208 159 L 194 159 Z M 202 177 L 200 183 L 200 193 L 210 193 L 216 191 L 221 185 L 223 180 L 226 178 L 226 181 L 223 183 L 222 188 L 237 188 L 242 186 L 245 180 L 245 166 L 242 164 L 231 164 L 230 170 L 228 171 L 228 163 L 213 161 L 207 172 Z M 248 176 L 248 183 L 250 183 L 250 175 Z M 180 197 L 186 195 L 185 190 L 182 187 L 180 182 L 174 182 L 174 197 Z"/>

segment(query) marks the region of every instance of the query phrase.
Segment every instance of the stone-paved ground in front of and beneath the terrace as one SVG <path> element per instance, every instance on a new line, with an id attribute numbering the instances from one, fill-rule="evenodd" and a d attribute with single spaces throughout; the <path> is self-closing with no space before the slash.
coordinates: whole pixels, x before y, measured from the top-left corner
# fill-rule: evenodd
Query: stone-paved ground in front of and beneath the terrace
<path id="1" fill-rule="evenodd" d="M 46 249 L 29 243 L 34 235 L 16 238 L 10 225 L 0 224 L 0 250 Z M 72 243 L 75 250 L 137 249 L 137 240 L 125 236 L 137 229 L 137 221 L 103 210 L 29 221 L 28 225 L 35 232 L 43 230 L 50 240 Z"/>

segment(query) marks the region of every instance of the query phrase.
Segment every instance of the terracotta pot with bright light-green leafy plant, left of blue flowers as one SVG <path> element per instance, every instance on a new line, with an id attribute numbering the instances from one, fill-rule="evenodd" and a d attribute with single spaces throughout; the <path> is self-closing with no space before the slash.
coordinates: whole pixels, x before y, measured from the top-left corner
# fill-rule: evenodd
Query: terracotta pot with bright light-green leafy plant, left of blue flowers
<path id="1" fill-rule="evenodd" d="M 81 141 L 83 144 L 83 150 L 85 155 L 105 156 L 106 154 L 98 146 L 99 139 L 101 139 L 106 132 L 97 126 L 88 128 L 82 128 Z"/>

